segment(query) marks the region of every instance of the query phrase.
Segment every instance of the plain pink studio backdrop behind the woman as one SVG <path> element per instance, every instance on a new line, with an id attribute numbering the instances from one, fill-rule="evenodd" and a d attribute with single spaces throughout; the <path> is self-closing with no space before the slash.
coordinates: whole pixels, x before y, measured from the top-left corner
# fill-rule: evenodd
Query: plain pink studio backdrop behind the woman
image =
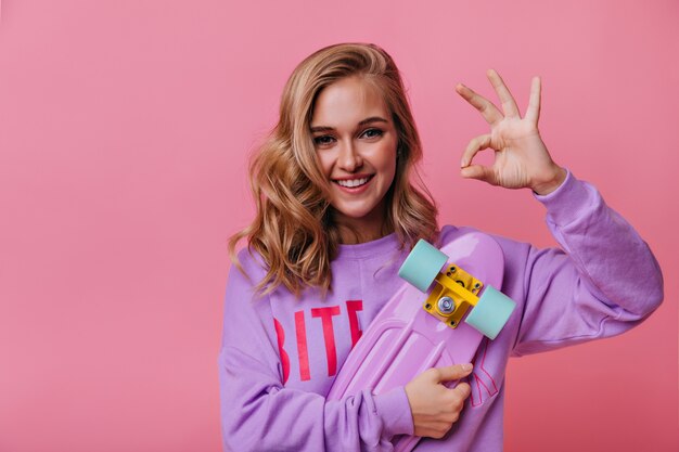
<path id="1" fill-rule="evenodd" d="M 507 451 L 676 451 L 679 3 L 4 0 L 0 25 L 0 451 L 219 451 L 226 240 L 246 155 L 313 50 L 399 64 L 441 222 L 552 245 L 528 192 L 463 181 L 486 124 L 522 109 L 655 251 L 666 301 L 627 335 L 512 360 Z M 459 193 L 478 208 L 459 210 Z"/>

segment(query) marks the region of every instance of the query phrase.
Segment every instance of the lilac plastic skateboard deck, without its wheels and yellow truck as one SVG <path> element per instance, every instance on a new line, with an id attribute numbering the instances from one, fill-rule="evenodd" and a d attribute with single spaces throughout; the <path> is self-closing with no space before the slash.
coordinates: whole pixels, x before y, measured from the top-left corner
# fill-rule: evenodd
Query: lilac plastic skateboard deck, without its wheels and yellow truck
<path id="1" fill-rule="evenodd" d="M 483 288 L 477 292 L 482 297 L 488 286 L 501 287 L 504 257 L 500 245 L 489 235 L 479 232 L 462 234 L 440 251 L 448 256 L 441 273 L 448 271 L 450 276 L 451 269 L 453 272 L 454 268 L 464 270 L 483 282 Z M 428 293 L 436 289 L 437 284 L 432 284 Z M 430 367 L 472 362 L 484 335 L 465 322 L 459 322 L 452 328 L 427 312 L 423 306 L 427 297 L 411 284 L 403 283 L 349 353 L 330 389 L 329 400 L 338 400 L 362 389 L 379 395 L 405 386 Z M 425 306 L 431 308 L 428 301 Z M 447 386 L 456 384 L 449 382 Z M 396 437 L 394 450 L 411 451 L 419 439 L 414 436 Z"/>

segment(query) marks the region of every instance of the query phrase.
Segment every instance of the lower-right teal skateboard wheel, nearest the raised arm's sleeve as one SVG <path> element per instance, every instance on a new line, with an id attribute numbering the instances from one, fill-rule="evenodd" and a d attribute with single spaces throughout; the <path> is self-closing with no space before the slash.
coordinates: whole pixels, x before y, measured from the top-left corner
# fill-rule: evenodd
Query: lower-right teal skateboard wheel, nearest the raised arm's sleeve
<path id="1" fill-rule="evenodd" d="M 465 322 L 483 333 L 484 336 L 495 339 L 515 307 L 516 304 L 513 299 L 492 286 L 486 286 L 484 294 L 466 317 Z"/>

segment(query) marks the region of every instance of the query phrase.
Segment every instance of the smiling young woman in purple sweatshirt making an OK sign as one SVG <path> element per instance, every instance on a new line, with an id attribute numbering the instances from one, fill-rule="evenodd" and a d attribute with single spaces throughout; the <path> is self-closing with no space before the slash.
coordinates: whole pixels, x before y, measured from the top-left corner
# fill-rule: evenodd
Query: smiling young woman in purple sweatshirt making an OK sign
<path id="1" fill-rule="evenodd" d="M 501 290 L 517 308 L 474 365 L 434 369 L 386 393 L 325 399 L 343 362 L 402 284 L 397 270 L 419 238 L 443 246 L 463 229 L 436 223 L 415 171 L 422 146 L 399 72 L 373 44 L 337 44 L 303 61 L 280 120 L 252 162 L 253 223 L 230 241 L 219 356 L 226 450 L 388 451 L 397 435 L 418 451 L 502 449 L 507 360 L 623 333 L 663 299 L 645 243 L 597 190 L 550 157 L 539 131 L 540 80 L 522 118 L 500 76 L 502 109 L 459 85 L 490 125 L 462 154 L 461 175 L 527 188 L 563 249 L 495 237 Z M 475 165 L 492 148 L 490 167 Z M 630 266 L 628 262 L 635 262 Z M 473 373 L 472 373 L 473 372 Z M 470 377 L 448 389 L 440 383 Z"/>

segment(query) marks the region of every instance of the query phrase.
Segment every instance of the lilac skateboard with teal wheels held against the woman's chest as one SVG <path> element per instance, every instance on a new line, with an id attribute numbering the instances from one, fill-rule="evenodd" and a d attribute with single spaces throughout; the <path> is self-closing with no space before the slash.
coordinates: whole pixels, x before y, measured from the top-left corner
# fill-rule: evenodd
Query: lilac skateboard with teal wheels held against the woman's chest
<path id="1" fill-rule="evenodd" d="M 481 232 L 462 234 L 440 250 L 418 242 L 398 272 L 407 283 L 363 332 L 328 399 L 362 389 L 379 395 L 430 367 L 472 362 L 483 337 L 495 339 L 514 310 L 515 302 L 495 288 L 503 268 L 500 245 Z M 409 452 L 419 440 L 403 435 L 392 442 L 394 451 Z"/>

